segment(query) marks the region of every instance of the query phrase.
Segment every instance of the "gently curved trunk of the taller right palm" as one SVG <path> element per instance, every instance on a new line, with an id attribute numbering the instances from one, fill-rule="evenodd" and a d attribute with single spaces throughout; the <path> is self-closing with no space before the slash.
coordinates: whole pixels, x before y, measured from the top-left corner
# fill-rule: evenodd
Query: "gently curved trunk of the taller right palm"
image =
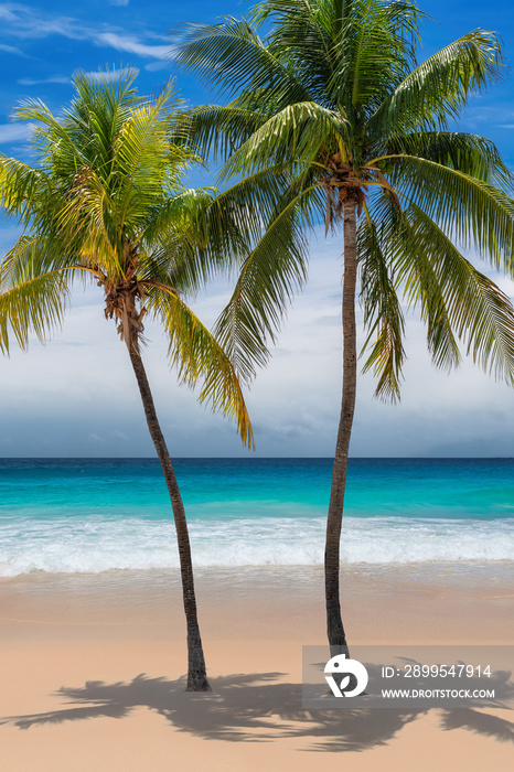
<path id="1" fill-rule="evenodd" d="M 344 279 L 343 279 L 343 395 L 335 458 L 332 471 L 325 542 L 326 632 L 331 656 L 347 653 L 346 636 L 341 619 L 339 594 L 340 540 L 343 521 L 344 489 L 349 462 L 350 435 L 355 409 L 357 379 L 357 344 L 355 326 L 355 286 L 357 279 L 357 245 L 355 201 L 344 205 Z"/>

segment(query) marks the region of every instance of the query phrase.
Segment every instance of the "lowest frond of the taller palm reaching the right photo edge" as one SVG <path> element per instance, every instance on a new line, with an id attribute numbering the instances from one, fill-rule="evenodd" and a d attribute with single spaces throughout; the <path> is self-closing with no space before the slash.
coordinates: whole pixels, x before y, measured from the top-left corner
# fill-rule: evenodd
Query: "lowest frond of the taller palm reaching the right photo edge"
<path id="1" fill-rule="evenodd" d="M 427 323 L 436 366 L 460 363 L 459 339 L 473 362 L 514 383 L 514 309 L 505 293 L 415 202 L 398 214 L 377 196 L 371 213 L 396 292 L 419 307 Z"/>

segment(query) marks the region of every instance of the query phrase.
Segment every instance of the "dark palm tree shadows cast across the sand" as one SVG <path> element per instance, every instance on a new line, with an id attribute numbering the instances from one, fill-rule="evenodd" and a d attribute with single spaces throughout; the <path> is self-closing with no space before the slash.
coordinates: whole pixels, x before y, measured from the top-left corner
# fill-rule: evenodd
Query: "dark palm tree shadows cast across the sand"
<path id="1" fill-rule="evenodd" d="M 265 742 L 308 738 L 315 751 L 363 751 L 386 744 L 426 709 L 304 709 L 301 684 L 277 683 L 279 673 L 232 675 L 212 679 L 212 694 L 184 691 L 183 678 L 169 680 L 140 674 L 130 683 L 90 680 L 62 687 L 56 697 L 66 707 L 44 714 L 13 716 L 1 723 L 20 729 L 98 717 L 125 718 L 147 707 L 181 731 L 203 739 Z M 512 686 L 512 685 L 508 685 Z M 72 707 L 75 706 L 75 707 Z M 514 742 L 514 723 L 471 708 L 438 709 L 441 729 L 469 729 Z"/>

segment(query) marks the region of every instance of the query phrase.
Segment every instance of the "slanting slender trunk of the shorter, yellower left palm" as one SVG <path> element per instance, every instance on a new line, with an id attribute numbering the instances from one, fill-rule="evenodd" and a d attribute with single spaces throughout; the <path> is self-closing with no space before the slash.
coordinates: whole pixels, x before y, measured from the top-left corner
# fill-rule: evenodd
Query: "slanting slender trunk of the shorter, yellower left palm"
<path id="1" fill-rule="evenodd" d="M 175 522 L 176 540 L 179 544 L 180 571 L 182 576 L 182 593 L 184 599 L 185 620 L 188 625 L 188 686 L 186 691 L 211 691 L 205 669 L 202 639 L 200 636 L 199 619 L 196 613 L 196 599 L 194 594 L 193 564 L 191 560 L 191 547 L 185 519 L 184 504 L 179 491 L 170 454 L 157 418 L 153 397 L 148 383 L 147 373 L 142 364 L 137 335 L 130 335 L 127 347 L 132 363 L 133 372 L 141 394 L 141 400 L 147 416 L 153 444 L 156 446 L 159 461 L 161 462 L 171 506 Z"/>

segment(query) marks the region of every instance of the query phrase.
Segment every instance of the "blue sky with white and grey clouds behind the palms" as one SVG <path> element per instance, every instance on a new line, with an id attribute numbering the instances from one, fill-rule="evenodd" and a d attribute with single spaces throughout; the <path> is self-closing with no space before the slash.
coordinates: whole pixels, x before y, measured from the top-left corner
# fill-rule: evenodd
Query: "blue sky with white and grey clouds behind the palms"
<path id="1" fill-rule="evenodd" d="M 514 62 L 514 14 L 505 0 L 427 0 L 420 57 L 481 26 L 500 31 Z M 10 122 L 18 100 L 43 99 L 54 111 L 73 94 L 72 73 L 106 65 L 139 71 L 141 92 L 176 75 L 168 57 L 170 33 L 184 21 L 242 15 L 247 3 L 104 0 L 71 6 L 0 2 L 0 150 L 22 157 L 25 127 Z M 475 99 L 461 128 L 493 139 L 514 168 L 514 78 Z M 183 97 L 215 101 L 191 77 L 178 75 Z M 210 184 L 208 176 L 204 184 Z M 15 238 L 0 221 L 0 249 Z M 340 398 L 340 245 L 322 237 L 311 248 L 311 280 L 289 313 L 279 345 L 248 396 L 258 455 L 331 455 Z M 511 296 L 514 285 L 500 279 Z M 213 321 L 227 298 L 217 282 L 196 308 Z M 148 369 L 170 450 L 174 455 L 240 455 L 233 427 L 200 407 L 174 384 L 159 330 L 149 329 Z M 409 363 L 399 406 L 372 399 L 361 378 L 352 452 L 355 455 L 514 455 L 514 393 L 469 363 L 450 376 L 436 373 L 422 329 L 409 319 Z M 78 292 L 63 333 L 0 360 L 0 457 L 151 455 L 136 384 L 114 326 L 103 320 L 101 297 Z"/>

